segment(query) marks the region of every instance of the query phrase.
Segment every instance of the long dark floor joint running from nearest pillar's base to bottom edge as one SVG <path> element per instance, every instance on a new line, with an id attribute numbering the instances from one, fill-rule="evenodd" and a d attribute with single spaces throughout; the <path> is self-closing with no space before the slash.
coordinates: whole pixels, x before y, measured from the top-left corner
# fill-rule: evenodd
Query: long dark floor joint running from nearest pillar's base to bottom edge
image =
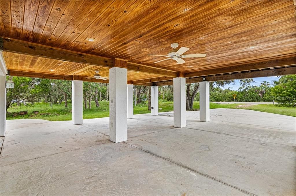
<path id="1" fill-rule="evenodd" d="M 127 142 L 123 142 L 123 143 L 128 144 Z M 147 150 L 141 149 L 141 148 L 139 148 L 139 147 L 137 147 L 137 146 L 133 146 L 133 145 L 131 145 L 131 144 L 128 144 L 128 145 L 130 145 L 130 146 L 132 146 L 132 147 L 134 147 L 134 148 L 137 148 L 137 149 L 139 149 L 139 150 L 141 150 L 141 151 L 144 151 L 144 152 L 146 152 L 146 153 L 148 153 L 148 154 L 151 154 L 151 155 L 153 155 L 153 156 L 155 156 L 155 157 L 158 157 L 158 158 L 161 158 L 161 159 L 163 159 L 163 160 L 166 160 L 166 161 L 168 161 L 168 162 L 170 162 L 170 163 L 176 164 L 176 165 L 178 165 L 179 167 L 183 167 L 183 168 L 188 169 L 188 170 L 190 170 L 190 171 L 192 171 L 192 172 L 195 172 L 195 173 L 197 173 L 197 174 L 200 174 L 200 175 L 202 175 L 202 176 L 204 176 L 204 177 L 210 178 L 210 179 L 212 179 L 212 180 L 214 180 L 214 181 L 220 182 L 220 183 L 222 183 L 222 184 L 224 184 L 224 185 L 227 185 L 227 186 L 229 186 L 229 187 L 232 187 L 232 188 L 234 188 L 234 189 L 237 189 L 237 190 L 239 190 L 239 191 L 241 191 L 241 192 L 243 192 L 243 193 L 246 193 L 246 194 L 248 194 L 248 195 L 258 196 L 258 195 L 255 195 L 255 194 L 251 193 L 251 192 L 248 192 L 248 191 L 246 191 L 246 190 L 240 189 L 240 188 L 238 188 L 238 187 L 236 187 L 236 186 L 233 186 L 233 185 L 230 185 L 230 184 L 228 184 L 228 183 L 226 183 L 226 182 L 223 182 L 223 181 L 221 181 L 221 180 L 218 180 L 218 179 L 216 179 L 216 178 L 214 178 L 214 177 L 211 177 L 211 176 L 209 176 L 209 175 L 207 175 L 207 174 L 205 174 L 205 173 L 199 172 L 199 171 L 197 171 L 197 170 L 194 170 L 194 169 L 192 169 L 192 168 L 190 168 L 190 167 L 187 167 L 187 166 L 185 166 L 185 165 L 182 165 L 182 164 L 180 164 L 180 163 L 176 163 L 176 162 L 173 162 L 173 161 L 171 161 L 171 160 L 168 160 L 168 159 L 166 159 L 166 158 L 164 158 L 164 157 L 162 157 L 162 156 L 160 156 L 160 155 L 154 154 L 154 153 L 152 153 L 152 152 L 150 152 L 150 151 L 147 151 Z"/>

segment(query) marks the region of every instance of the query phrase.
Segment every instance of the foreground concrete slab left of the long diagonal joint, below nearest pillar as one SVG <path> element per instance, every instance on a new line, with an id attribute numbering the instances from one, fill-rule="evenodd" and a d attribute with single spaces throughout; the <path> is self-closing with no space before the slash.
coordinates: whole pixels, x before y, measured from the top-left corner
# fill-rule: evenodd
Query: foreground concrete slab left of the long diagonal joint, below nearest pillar
<path id="1" fill-rule="evenodd" d="M 1 178 L 1 195 L 247 195 L 125 143 L 41 157 L 1 172 L 17 179 Z"/>

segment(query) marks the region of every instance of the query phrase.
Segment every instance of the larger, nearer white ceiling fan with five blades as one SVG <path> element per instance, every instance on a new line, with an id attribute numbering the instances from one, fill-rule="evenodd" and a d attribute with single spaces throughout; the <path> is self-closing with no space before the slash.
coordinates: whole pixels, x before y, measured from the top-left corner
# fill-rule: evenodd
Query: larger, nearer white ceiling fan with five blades
<path id="1" fill-rule="evenodd" d="M 167 59 L 163 59 L 163 60 L 160 60 L 160 61 L 157 61 L 157 62 L 173 59 L 173 60 L 177 61 L 176 64 L 183 64 L 185 62 L 181 58 L 195 58 L 195 57 L 200 58 L 200 57 L 207 56 L 206 54 L 183 55 L 183 53 L 185 53 L 187 50 L 189 50 L 189 48 L 181 47 L 179 50 L 177 50 L 176 48 L 179 46 L 178 43 L 173 43 L 170 46 L 173 48 L 173 50 L 168 52 L 168 55 L 149 55 L 149 56 L 169 57 Z M 157 62 L 154 62 L 154 63 L 157 63 Z"/>

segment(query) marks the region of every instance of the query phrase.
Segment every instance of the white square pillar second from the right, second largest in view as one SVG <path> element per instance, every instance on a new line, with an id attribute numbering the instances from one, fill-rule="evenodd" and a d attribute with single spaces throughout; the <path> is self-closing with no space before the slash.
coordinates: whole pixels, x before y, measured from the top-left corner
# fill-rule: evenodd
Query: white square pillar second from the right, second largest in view
<path id="1" fill-rule="evenodd" d="M 186 126 L 185 78 L 174 78 L 174 127 Z"/>

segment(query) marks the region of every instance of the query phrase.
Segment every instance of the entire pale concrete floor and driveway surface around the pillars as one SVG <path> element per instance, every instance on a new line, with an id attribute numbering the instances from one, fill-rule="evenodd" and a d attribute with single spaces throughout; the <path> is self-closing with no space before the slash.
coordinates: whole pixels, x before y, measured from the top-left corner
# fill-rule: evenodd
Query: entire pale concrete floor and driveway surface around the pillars
<path id="1" fill-rule="evenodd" d="M 1 195 L 295 195 L 296 118 L 212 109 L 134 115 L 128 141 L 109 141 L 109 118 L 9 120 Z M 1 139 L 1 138 L 0 138 Z M 3 138 L 2 138 L 3 139 Z M 1 141 L 1 140 L 0 140 Z"/>

